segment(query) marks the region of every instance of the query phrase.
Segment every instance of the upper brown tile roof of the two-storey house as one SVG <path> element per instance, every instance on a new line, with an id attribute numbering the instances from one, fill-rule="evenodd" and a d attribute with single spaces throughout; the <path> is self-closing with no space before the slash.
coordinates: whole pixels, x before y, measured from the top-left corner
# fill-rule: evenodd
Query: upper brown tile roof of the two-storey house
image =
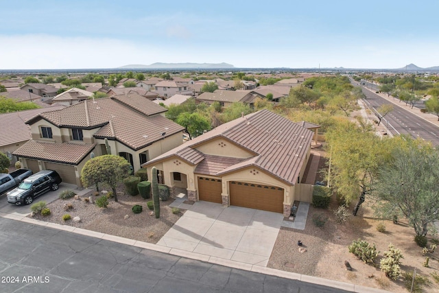
<path id="1" fill-rule="evenodd" d="M 139 150 L 163 137 L 185 128 L 160 113 L 166 109 L 137 93 L 115 95 L 102 99 L 87 99 L 62 110 L 42 113 L 27 121 L 45 119 L 58 127 L 93 129 L 97 138 L 115 139 L 133 150 Z M 164 135 L 163 135 L 164 134 Z"/>

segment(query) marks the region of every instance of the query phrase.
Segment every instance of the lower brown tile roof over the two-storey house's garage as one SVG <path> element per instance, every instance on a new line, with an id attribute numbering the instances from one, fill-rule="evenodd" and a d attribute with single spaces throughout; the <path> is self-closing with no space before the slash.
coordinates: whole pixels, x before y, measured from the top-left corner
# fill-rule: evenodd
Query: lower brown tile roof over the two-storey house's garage
<path id="1" fill-rule="evenodd" d="M 91 153 L 95 145 L 95 143 L 42 143 L 30 140 L 13 154 L 27 159 L 43 159 L 44 161 L 78 165 L 85 156 Z"/>

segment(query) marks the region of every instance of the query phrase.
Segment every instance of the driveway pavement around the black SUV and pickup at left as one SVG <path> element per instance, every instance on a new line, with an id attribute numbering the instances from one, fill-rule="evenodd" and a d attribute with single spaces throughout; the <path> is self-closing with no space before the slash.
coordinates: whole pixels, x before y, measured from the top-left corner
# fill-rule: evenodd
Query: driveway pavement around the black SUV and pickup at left
<path id="1" fill-rule="evenodd" d="M 36 198 L 32 204 L 34 204 L 36 202 L 41 202 L 41 201 L 45 201 L 47 204 L 50 202 L 53 202 L 54 200 L 56 200 L 58 198 L 58 196 L 60 195 L 60 193 L 62 191 L 67 190 L 67 189 L 73 189 L 77 194 L 83 194 L 85 192 L 88 192 L 88 189 L 78 190 L 76 188 L 77 188 L 76 185 L 69 184 L 69 183 L 61 183 L 60 188 L 58 190 L 49 191 L 49 192 L 43 194 L 42 196 Z M 31 212 L 30 207 L 32 206 L 32 204 L 29 204 L 29 205 L 10 204 L 8 202 L 8 199 L 6 198 L 6 194 L 3 194 L 2 196 L 0 196 L 0 212 L 1 213 L 27 215 Z"/>

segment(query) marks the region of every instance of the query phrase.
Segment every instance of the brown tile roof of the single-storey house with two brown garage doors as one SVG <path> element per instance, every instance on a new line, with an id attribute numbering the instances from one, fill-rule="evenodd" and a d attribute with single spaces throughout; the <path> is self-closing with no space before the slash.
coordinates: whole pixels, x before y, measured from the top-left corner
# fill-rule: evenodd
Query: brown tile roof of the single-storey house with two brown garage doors
<path id="1" fill-rule="evenodd" d="M 178 156 L 180 159 L 189 161 L 187 160 L 189 154 L 193 156 L 193 152 L 190 152 L 189 149 L 196 149 L 198 144 L 215 139 L 215 137 L 228 139 L 254 153 L 254 156 L 249 159 L 239 161 L 239 163 L 217 172 L 217 176 L 245 167 L 259 167 L 272 176 L 294 185 L 300 169 L 305 163 L 313 132 L 269 110 L 260 110 L 246 115 L 244 118 L 222 124 L 200 135 L 200 137 L 156 157 L 144 166 L 163 161 L 171 156 Z M 198 154 L 198 160 L 193 161 L 193 163 L 202 161 L 205 156 Z"/>

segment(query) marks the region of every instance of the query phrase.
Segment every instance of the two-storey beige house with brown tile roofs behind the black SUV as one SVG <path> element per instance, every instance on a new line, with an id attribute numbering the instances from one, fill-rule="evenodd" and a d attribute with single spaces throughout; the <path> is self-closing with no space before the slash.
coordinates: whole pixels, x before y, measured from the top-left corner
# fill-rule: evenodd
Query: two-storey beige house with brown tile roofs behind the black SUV
<path id="1" fill-rule="evenodd" d="M 82 187 L 86 161 L 107 154 L 123 156 L 133 167 L 182 144 L 182 126 L 165 118 L 166 108 L 137 93 L 101 99 L 40 113 L 26 121 L 32 139 L 14 151 L 23 167 L 38 172 L 54 169 L 65 183 Z"/>

